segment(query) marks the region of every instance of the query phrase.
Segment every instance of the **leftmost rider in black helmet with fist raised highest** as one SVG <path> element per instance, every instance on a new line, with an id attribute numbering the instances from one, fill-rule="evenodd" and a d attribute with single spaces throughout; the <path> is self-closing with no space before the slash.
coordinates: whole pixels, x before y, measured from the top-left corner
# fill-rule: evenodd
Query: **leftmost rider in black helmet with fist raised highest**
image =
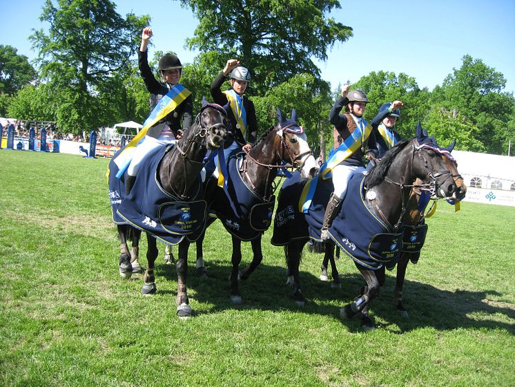
<path id="1" fill-rule="evenodd" d="M 143 29 L 142 44 L 139 46 L 138 51 L 139 72 L 145 82 L 146 89 L 150 92 L 150 111 L 153 111 L 155 106 L 159 104 L 159 101 L 162 100 L 164 95 L 169 91 L 179 91 L 178 86 L 182 88 L 182 85 L 179 84 L 182 64 L 176 55 L 166 54 L 159 59 L 158 69 L 164 82 L 159 82 L 155 79 L 150 66 L 148 66 L 147 53 L 148 41 L 152 35 L 152 28 L 145 27 Z M 157 124 L 148 129 L 144 141 L 136 147 L 133 159 L 127 169 L 125 180 L 126 193 L 133 187 L 137 171 L 145 156 L 154 149 L 166 146 L 167 144 L 174 144 L 182 137 L 182 131 L 190 128 L 193 117 L 193 99 L 191 93 L 184 99 L 182 99 L 180 95 L 177 97 L 178 99 L 174 100 L 178 103 L 178 106 Z"/>

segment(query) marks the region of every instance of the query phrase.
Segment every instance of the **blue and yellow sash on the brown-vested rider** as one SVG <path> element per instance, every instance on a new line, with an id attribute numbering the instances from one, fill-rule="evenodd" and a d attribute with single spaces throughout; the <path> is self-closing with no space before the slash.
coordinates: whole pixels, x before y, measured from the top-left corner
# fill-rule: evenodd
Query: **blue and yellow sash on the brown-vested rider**
<path id="1" fill-rule="evenodd" d="M 309 209 L 309 205 L 311 205 L 311 200 L 313 200 L 313 195 L 315 194 L 316 186 L 318 185 L 318 179 L 321 177 L 323 180 L 326 180 L 331 177 L 331 171 L 334 167 L 336 167 L 340 162 L 349 158 L 362 144 L 365 143 L 367 138 L 369 138 L 370 133 L 372 132 L 372 127 L 368 124 L 368 122 L 363 118 L 361 122 L 356 120 L 356 117 L 351 115 L 354 122 L 356 122 L 356 130 L 352 132 L 349 137 L 345 139 L 344 142 L 338 147 L 336 150 L 331 152 L 329 159 L 327 162 L 322 164 L 320 167 L 320 172 L 315 178 L 309 180 L 307 185 L 304 186 L 302 190 L 302 195 L 300 196 L 299 201 L 299 211 L 307 213 Z"/>

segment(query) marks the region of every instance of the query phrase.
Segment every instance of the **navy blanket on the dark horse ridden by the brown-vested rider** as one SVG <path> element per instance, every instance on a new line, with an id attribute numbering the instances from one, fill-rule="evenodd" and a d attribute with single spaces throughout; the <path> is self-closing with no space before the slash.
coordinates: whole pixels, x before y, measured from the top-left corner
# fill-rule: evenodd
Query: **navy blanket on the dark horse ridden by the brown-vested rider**
<path id="1" fill-rule="evenodd" d="M 347 195 L 329 228 L 329 236 L 353 261 L 371 270 L 378 270 L 385 264 L 394 265 L 400 258 L 402 229 L 395 232 L 375 211 L 367 207 L 362 186 L 364 179 L 365 176 L 356 173 L 349 181 Z M 283 187 L 286 191 L 281 191 L 275 215 L 273 245 L 286 245 L 295 238 L 320 241 L 325 207 L 333 191 L 332 182 L 329 179 L 319 182 L 308 213 L 302 218 L 297 199 L 300 199 L 304 185 L 305 180 L 297 177 Z"/>

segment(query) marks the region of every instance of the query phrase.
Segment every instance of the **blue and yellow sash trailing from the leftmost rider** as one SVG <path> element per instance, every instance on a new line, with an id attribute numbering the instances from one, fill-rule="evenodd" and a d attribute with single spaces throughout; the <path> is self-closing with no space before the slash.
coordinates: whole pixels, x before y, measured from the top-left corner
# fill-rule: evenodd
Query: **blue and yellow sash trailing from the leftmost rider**
<path id="1" fill-rule="evenodd" d="M 119 171 L 116 174 L 117 178 L 120 178 L 124 174 L 125 170 L 130 164 L 130 161 L 133 160 L 133 154 L 137 144 L 142 142 L 142 140 L 145 138 L 148 129 L 157 124 L 157 122 L 161 121 L 164 117 L 166 117 L 166 115 L 174 111 L 175 108 L 182 104 L 182 102 L 184 102 L 184 100 L 186 100 L 189 95 L 191 95 L 191 91 L 182 86 L 182 84 L 176 84 L 175 86 L 172 86 L 170 91 L 168 91 L 168 93 L 162 97 L 162 99 L 159 101 L 159 104 L 155 106 L 152 113 L 150 113 L 148 118 L 145 120 L 142 130 L 137 133 L 133 140 L 130 140 L 124 151 L 122 151 L 122 153 L 120 153 L 118 158 L 115 160 L 119 168 Z"/>

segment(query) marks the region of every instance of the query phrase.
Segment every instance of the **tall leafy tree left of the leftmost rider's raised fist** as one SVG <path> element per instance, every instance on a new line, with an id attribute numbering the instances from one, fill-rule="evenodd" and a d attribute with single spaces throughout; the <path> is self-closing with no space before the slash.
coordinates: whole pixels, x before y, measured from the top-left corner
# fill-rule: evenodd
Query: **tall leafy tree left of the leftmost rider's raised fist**
<path id="1" fill-rule="evenodd" d="M 139 32 L 149 17 L 122 18 L 109 0 L 50 0 L 41 21 L 50 23 L 48 33 L 37 30 L 30 37 L 39 50 L 43 79 L 62 100 L 57 112 L 61 129 L 77 133 L 104 123 L 99 111 L 116 77 L 126 75 L 130 56 L 138 46 Z M 117 92 L 115 90 L 114 92 Z"/>

